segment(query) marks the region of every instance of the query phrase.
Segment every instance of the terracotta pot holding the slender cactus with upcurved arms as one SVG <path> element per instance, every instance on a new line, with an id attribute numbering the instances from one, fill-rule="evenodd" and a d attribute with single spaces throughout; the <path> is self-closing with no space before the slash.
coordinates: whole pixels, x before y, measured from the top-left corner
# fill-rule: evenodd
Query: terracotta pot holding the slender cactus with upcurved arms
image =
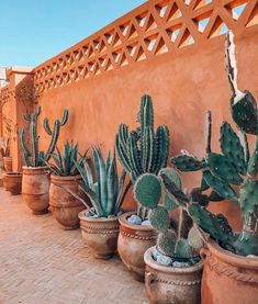
<path id="1" fill-rule="evenodd" d="M 47 167 L 23 167 L 22 196 L 33 214 L 48 212 L 49 176 Z"/>

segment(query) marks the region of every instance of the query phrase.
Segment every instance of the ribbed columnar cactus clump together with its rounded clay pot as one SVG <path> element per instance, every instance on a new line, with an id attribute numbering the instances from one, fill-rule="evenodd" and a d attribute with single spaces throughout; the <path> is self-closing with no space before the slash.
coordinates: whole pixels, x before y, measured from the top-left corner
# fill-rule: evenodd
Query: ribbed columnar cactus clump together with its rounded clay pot
<path id="1" fill-rule="evenodd" d="M 138 113 L 139 127 L 128 132 L 121 124 L 115 138 L 119 160 L 131 176 L 133 183 L 144 172 L 157 174 L 166 166 L 169 153 L 167 126 L 154 130 L 153 101 L 144 95 Z M 136 280 L 144 279 L 144 252 L 156 243 L 156 230 L 147 221 L 147 209 L 137 205 L 137 214 L 125 213 L 120 217 L 117 250 L 124 264 Z"/>

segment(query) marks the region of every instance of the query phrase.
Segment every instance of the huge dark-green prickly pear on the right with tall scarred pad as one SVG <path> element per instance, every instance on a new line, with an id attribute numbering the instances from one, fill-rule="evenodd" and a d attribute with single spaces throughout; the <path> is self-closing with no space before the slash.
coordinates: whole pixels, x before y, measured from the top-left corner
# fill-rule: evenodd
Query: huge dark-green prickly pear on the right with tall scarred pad
<path id="1" fill-rule="evenodd" d="M 233 34 L 226 40 L 228 80 L 233 91 L 232 117 L 238 134 L 229 123 L 221 126 L 221 154 L 211 151 L 211 113 L 207 114 L 206 156 L 199 160 L 186 153 L 171 159 L 180 171 L 202 170 L 201 190 L 211 189 L 209 200 L 229 199 L 240 205 L 244 227 L 234 234 L 222 215 L 213 215 L 199 204 L 188 206 L 191 217 L 226 249 L 235 254 L 258 256 L 258 110 L 249 91 L 237 88 L 237 68 Z M 247 135 L 255 135 L 254 149 L 249 153 Z M 199 164 L 199 166 L 194 165 Z M 237 189 L 240 189 L 237 191 Z"/>

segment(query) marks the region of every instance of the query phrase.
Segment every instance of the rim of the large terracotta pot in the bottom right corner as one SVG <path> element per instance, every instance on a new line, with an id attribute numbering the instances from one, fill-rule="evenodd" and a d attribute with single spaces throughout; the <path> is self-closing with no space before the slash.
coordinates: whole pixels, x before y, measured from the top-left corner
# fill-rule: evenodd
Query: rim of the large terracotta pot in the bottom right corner
<path id="1" fill-rule="evenodd" d="M 226 249 L 223 249 L 215 240 L 209 239 L 206 243 L 207 249 L 211 251 L 220 260 L 236 266 L 236 267 L 244 267 L 244 268 L 258 268 L 258 257 L 257 258 L 246 258 L 243 256 L 235 255 Z M 205 256 L 204 249 L 204 256 Z M 209 255 L 209 254 L 207 254 Z"/>

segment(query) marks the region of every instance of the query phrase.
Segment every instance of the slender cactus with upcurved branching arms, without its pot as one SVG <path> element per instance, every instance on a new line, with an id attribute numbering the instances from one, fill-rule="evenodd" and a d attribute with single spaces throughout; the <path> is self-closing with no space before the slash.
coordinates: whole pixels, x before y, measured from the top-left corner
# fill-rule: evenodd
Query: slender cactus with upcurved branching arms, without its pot
<path id="1" fill-rule="evenodd" d="M 55 150 L 58 137 L 59 137 L 59 131 L 60 126 L 65 125 L 68 120 L 68 111 L 65 110 L 63 113 L 61 121 L 56 120 L 53 131 L 49 127 L 48 120 L 44 120 L 44 128 L 47 132 L 49 136 L 52 136 L 49 147 L 46 151 L 38 151 L 38 138 L 37 135 L 37 117 L 41 114 L 41 106 L 38 105 L 36 108 L 36 112 L 32 114 L 24 114 L 24 120 L 30 123 L 30 144 L 31 148 L 29 149 L 25 143 L 25 130 L 20 130 L 20 144 L 22 148 L 23 154 L 23 160 L 27 167 L 42 167 L 45 166 L 44 161 L 48 161 L 52 154 Z"/>

